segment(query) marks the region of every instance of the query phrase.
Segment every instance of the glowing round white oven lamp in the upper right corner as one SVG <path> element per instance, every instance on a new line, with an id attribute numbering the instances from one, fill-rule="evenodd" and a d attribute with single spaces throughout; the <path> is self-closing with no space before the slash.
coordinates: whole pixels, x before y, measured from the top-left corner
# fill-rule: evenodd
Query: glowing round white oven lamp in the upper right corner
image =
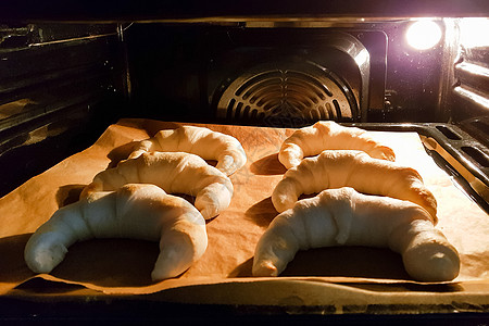
<path id="1" fill-rule="evenodd" d="M 428 50 L 441 39 L 440 26 L 431 20 L 415 21 L 405 34 L 408 43 L 416 50 Z"/>

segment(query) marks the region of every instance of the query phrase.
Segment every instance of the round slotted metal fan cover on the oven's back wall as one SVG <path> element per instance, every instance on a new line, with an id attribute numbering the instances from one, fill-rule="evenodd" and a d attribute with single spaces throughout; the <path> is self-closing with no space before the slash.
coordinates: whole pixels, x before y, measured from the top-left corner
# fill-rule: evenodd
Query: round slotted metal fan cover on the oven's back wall
<path id="1" fill-rule="evenodd" d="M 299 127 L 319 120 L 359 118 L 352 89 L 314 63 L 260 65 L 221 89 L 217 117 L 230 123 Z"/>

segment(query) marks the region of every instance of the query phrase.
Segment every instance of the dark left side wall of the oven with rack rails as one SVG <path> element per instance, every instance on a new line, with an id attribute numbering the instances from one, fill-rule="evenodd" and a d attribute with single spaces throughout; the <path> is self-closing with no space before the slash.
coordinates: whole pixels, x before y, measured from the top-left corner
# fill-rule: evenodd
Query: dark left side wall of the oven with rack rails
<path id="1" fill-rule="evenodd" d="M 124 115 L 116 25 L 0 25 L 0 196 Z"/>

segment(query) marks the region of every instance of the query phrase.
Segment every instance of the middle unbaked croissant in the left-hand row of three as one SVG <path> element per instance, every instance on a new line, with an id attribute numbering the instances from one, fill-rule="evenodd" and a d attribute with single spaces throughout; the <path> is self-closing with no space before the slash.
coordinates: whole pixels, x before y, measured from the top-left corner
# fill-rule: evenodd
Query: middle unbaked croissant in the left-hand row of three
<path id="1" fill-rule="evenodd" d="M 234 191 L 230 179 L 198 155 L 145 152 L 97 174 L 83 190 L 82 198 L 93 191 L 115 190 L 125 184 L 153 184 L 168 193 L 193 196 L 195 205 L 205 220 L 227 209 Z"/>

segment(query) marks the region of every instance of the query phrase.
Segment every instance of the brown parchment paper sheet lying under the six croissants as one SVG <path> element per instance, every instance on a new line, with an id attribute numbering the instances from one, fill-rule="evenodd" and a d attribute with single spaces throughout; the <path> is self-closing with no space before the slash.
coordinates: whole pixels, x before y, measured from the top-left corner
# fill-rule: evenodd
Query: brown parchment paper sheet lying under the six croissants
<path id="1" fill-rule="evenodd" d="M 266 127 L 202 125 L 236 137 L 248 155 L 246 166 L 231 176 L 229 208 L 208 222 L 204 255 L 177 278 L 152 283 L 150 273 L 158 243 L 129 239 L 97 239 L 75 243 L 50 275 L 35 275 L 24 263 L 28 237 L 60 206 L 77 200 L 82 188 L 100 171 L 128 154 L 133 141 L 178 124 L 122 120 L 100 139 L 0 199 L 0 294 L 35 277 L 82 285 L 104 293 L 153 293 L 165 289 L 213 284 L 290 281 L 355 284 L 416 284 L 404 272 L 399 254 L 389 250 L 342 247 L 299 252 L 278 278 L 254 278 L 254 246 L 278 214 L 271 193 L 285 167 L 277 153 L 293 130 Z M 372 131 L 390 146 L 397 161 L 416 168 L 438 201 L 438 228 L 459 250 L 460 276 L 452 284 L 489 283 L 489 216 L 459 190 L 424 151 L 415 133 Z M 212 162 L 210 162 L 212 164 Z M 294 284 L 297 286 L 297 284 Z M 486 287 L 487 288 L 487 287 Z"/>

